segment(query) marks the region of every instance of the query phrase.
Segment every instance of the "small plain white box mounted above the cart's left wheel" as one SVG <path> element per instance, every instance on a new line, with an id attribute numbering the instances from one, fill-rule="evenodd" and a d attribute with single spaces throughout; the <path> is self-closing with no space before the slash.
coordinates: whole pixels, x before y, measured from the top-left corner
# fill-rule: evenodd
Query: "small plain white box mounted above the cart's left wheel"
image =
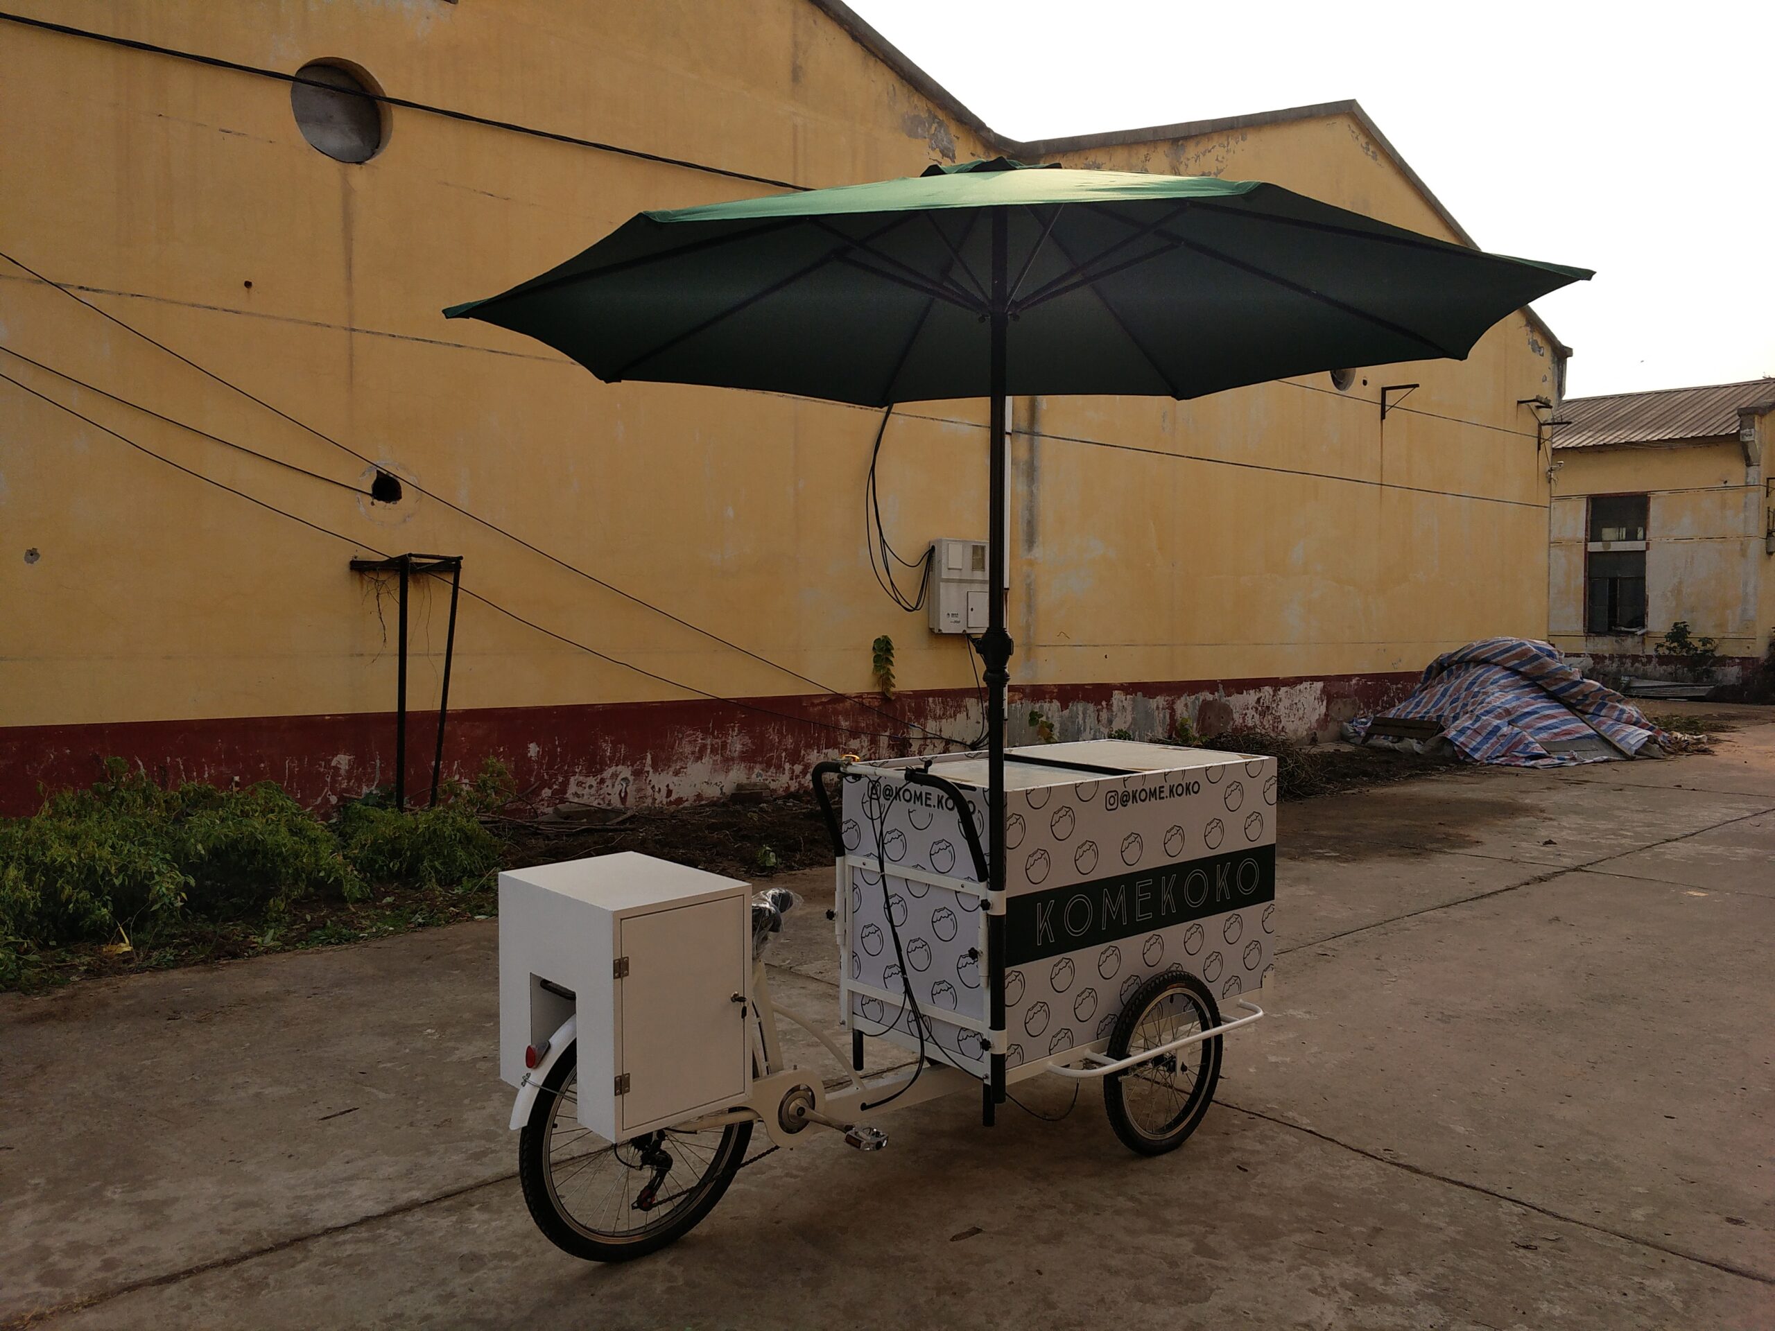
<path id="1" fill-rule="evenodd" d="M 501 1079 L 577 1015 L 579 1122 L 600 1138 L 742 1104 L 751 949 L 735 878 L 634 852 L 501 873 Z"/>

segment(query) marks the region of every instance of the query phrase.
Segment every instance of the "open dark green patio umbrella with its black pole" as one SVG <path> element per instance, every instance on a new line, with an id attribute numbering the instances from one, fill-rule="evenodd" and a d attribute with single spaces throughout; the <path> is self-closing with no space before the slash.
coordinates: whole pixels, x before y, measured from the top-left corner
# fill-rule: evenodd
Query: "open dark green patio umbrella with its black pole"
<path id="1" fill-rule="evenodd" d="M 1001 589 L 1006 394 L 1200 398 L 1347 366 L 1459 360 L 1511 311 L 1587 277 L 1262 181 L 998 158 L 641 213 L 561 266 L 446 312 L 536 337 L 609 383 L 866 406 L 987 398 L 987 548 Z M 989 889 L 1001 902 L 1012 655 L 1003 595 L 989 614 Z M 985 964 L 999 971 L 990 923 Z M 999 1100 L 1003 1061 L 992 1059 Z"/>

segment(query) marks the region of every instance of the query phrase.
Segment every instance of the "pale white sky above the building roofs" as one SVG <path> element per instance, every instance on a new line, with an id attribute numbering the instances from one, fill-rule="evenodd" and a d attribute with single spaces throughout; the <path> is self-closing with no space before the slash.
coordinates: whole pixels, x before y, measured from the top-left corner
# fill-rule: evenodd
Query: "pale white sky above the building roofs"
<path id="1" fill-rule="evenodd" d="M 1354 98 L 1535 302 L 1567 396 L 1775 374 L 1775 4 L 850 0 L 1012 138 Z M 1278 181 L 1287 185 L 1287 181 Z"/>

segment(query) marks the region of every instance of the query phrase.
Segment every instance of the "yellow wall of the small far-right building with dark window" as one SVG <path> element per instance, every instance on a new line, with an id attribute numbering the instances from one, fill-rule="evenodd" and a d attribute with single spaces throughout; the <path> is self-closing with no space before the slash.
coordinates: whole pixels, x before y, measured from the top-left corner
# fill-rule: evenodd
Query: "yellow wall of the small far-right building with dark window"
<path id="1" fill-rule="evenodd" d="M 1759 657 L 1775 625 L 1763 477 L 1736 438 L 1555 449 L 1550 559 L 1551 641 L 1567 651 L 1651 655 L 1677 619 Z M 1585 634 L 1583 570 L 1590 495 L 1645 493 L 1645 634 Z"/>

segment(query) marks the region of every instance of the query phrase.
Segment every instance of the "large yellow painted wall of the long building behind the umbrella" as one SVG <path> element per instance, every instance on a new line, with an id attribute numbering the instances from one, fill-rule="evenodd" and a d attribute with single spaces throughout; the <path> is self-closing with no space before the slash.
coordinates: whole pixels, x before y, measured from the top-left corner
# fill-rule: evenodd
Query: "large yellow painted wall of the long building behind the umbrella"
<path id="1" fill-rule="evenodd" d="M 16 7 L 284 71 L 346 59 L 396 98 L 811 186 L 983 149 L 806 0 L 94 0 L 76 20 L 41 0 Z M 7 252 L 376 463 L 822 683 L 868 690 L 870 641 L 888 632 L 902 689 L 971 687 L 962 642 L 927 634 L 870 577 L 875 413 L 604 385 L 536 343 L 438 314 L 637 209 L 769 186 L 406 108 L 390 112 L 380 156 L 343 165 L 304 142 L 280 82 L 9 23 L 0 60 Z M 1344 115 L 1069 165 L 1264 177 L 1447 234 Z M 4 263 L 0 325 L 7 348 L 367 484 L 359 460 Z M 463 554 L 465 587 L 692 689 L 815 692 L 414 492 L 371 506 L 0 362 L 348 538 L 199 484 L 0 383 L 0 726 L 385 710 L 392 603 L 346 570 L 373 550 Z M 1315 376 L 1195 403 L 1019 401 L 1014 685 L 1415 671 L 1473 637 L 1539 635 L 1546 456 L 1516 401 L 1553 389 L 1544 339 L 1512 316 L 1464 364 L 1358 371 L 1345 394 Z M 1402 382 L 1422 387 L 1383 428 L 1379 385 Z M 903 550 L 983 534 L 982 426 L 978 403 L 912 406 L 889 426 L 884 513 Z M 442 614 L 422 591 L 422 694 Z M 683 696 L 462 609 L 453 706 Z"/>

